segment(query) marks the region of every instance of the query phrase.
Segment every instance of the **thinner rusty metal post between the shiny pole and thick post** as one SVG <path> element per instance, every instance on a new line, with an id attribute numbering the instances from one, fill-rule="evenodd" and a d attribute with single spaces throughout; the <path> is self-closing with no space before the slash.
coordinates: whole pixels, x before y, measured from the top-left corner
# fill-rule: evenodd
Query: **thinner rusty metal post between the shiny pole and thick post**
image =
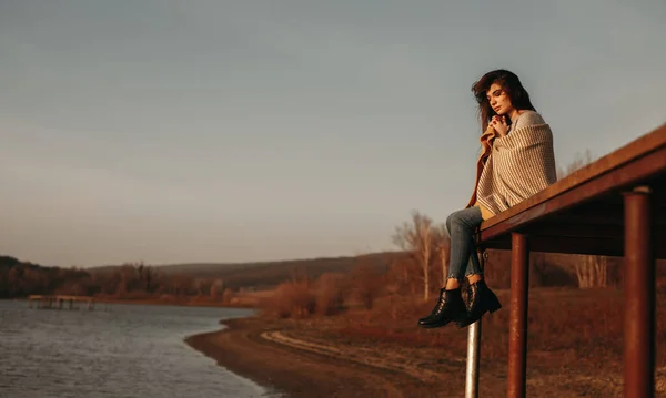
<path id="1" fill-rule="evenodd" d="M 527 236 L 512 233 L 511 308 L 508 315 L 508 398 L 525 398 L 527 375 L 527 287 L 529 247 Z"/>

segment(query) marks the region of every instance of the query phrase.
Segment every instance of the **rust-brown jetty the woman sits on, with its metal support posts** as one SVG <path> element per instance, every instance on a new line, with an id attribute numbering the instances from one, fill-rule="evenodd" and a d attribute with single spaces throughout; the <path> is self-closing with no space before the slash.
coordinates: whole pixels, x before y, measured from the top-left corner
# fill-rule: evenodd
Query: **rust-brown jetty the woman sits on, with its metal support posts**
<path id="1" fill-rule="evenodd" d="M 511 249 L 509 398 L 528 396 L 529 252 L 624 257 L 624 397 L 655 396 L 655 259 L 666 258 L 666 124 L 483 222 L 476 236 Z M 470 326 L 465 397 L 478 397 L 481 320 Z"/>

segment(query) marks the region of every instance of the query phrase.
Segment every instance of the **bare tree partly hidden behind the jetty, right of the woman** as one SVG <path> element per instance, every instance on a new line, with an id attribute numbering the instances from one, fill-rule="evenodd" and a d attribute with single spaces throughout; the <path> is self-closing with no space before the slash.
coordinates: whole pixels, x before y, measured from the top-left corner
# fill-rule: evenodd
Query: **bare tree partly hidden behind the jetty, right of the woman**
<path id="1" fill-rule="evenodd" d="M 594 162 L 594 156 L 589 150 L 585 150 L 584 153 L 576 153 L 574 161 L 566 169 L 557 171 L 557 176 L 562 180 L 592 162 Z M 575 265 L 578 287 L 605 287 L 608 284 L 608 267 L 606 265 L 605 257 L 596 255 L 581 256 L 581 261 L 576 262 Z"/>

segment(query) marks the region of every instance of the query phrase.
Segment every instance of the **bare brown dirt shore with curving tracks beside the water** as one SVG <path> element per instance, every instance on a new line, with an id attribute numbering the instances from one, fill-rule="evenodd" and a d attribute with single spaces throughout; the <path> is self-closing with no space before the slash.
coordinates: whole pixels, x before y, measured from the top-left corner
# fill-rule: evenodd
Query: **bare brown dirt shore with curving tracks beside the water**
<path id="1" fill-rule="evenodd" d="M 223 319 L 225 328 L 184 341 L 225 369 L 282 397 L 433 397 L 422 380 L 335 355 L 335 347 L 293 339 L 290 323 L 258 316 Z"/>

